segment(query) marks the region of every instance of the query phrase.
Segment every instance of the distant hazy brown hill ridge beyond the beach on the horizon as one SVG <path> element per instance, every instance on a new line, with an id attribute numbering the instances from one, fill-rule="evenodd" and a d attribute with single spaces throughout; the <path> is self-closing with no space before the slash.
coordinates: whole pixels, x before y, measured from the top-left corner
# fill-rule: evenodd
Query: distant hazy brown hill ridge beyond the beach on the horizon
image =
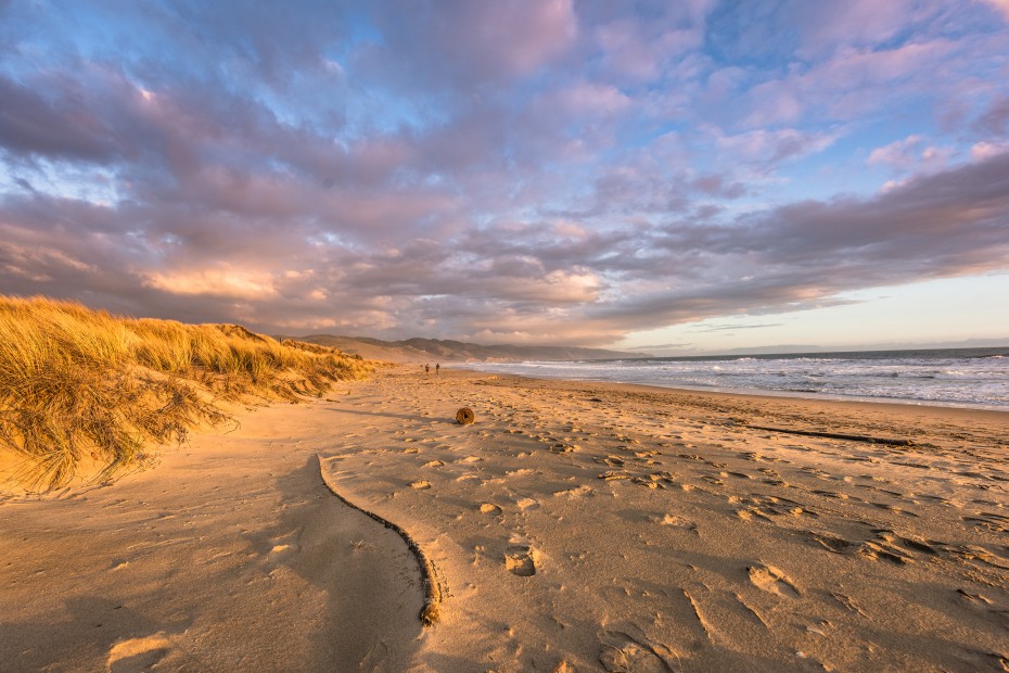
<path id="1" fill-rule="evenodd" d="M 627 353 L 605 348 L 582 348 L 576 346 L 519 346 L 512 344 L 481 345 L 443 339 L 407 339 L 382 341 L 369 336 L 342 336 L 336 334 L 311 334 L 299 336 L 302 341 L 340 348 L 344 353 L 372 359 L 416 361 L 434 359 L 442 361 L 502 361 L 502 360 L 601 360 L 627 357 L 648 357 L 647 353 Z"/>

